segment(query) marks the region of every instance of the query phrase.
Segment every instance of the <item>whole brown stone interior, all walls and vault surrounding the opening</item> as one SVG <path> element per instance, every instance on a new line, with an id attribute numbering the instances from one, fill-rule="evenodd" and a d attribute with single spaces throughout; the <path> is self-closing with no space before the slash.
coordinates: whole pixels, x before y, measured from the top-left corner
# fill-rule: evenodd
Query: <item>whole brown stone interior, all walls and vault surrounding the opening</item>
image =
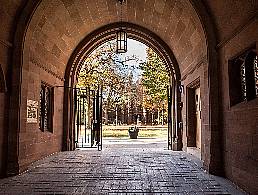
<path id="1" fill-rule="evenodd" d="M 76 60 L 113 36 L 120 21 L 119 2 L 29 0 L 1 5 L 6 29 L 0 33 L 0 58 L 7 90 L 0 99 L 0 156 L 6 162 L 0 164 L 0 175 L 6 169 L 13 175 L 38 159 L 73 149 L 67 87 L 73 87 Z M 232 105 L 235 97 L 229 91 L 236 87 L 230 81 L 231 64 L 250 48 L 257 54 L 257 6 L 244 0 L 127 0 L 123 20 L 134 38 L 157 47 L 167 64 L 173 64 L 174 86 L 181 86 L 175 88 L 181 92 L 175 94 L 176 106 L 182 107 L 175 125 L 182 135 L 178 149 L 199 148 L 206 170 L 225 174 L 251 192 L 257 191 L 257 185 L 247 182 L 252 178 L 257 183 L 257 94 Z M 46 121 L 35 115 L 42 102 L 51 110 L 44 112 L 50 113 Z"/>

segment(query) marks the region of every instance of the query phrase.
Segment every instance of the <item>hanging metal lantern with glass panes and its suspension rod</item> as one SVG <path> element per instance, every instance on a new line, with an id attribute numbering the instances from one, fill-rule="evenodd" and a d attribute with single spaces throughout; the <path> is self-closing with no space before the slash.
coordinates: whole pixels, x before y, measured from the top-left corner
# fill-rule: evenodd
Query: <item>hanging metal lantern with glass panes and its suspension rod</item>
<path id="1" fill-rule="evenodd" d="M 127 32 L 126 28 L 122 26 L 122 8 L 123 3 L 126 0 L 118 0 L 120 2 L 120 27 L 119 30 L 116 32 L 116 52 L 117 53 L 125 53 L 127 52 Z"/>

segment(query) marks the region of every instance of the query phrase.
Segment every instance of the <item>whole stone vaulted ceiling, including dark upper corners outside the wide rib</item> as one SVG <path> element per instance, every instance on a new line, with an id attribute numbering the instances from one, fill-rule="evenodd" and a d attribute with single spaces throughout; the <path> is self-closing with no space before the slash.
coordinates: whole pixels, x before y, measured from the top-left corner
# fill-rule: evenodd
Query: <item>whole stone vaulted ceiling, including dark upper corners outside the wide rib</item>
<path id="1" fill-rule="evenodd" d="M 0 6 L 0 40 L 13 45 L 15 24 L 26 0 L 4 0 Z M 30 21 L 25 47 L 30 63 L 63 77 L 68 59 L 90 32 L 119 21 L 116 0 L 42 0 Z M 214 20 L 218 44 L 257 16 L 258 1 L 203 1 Z M 127 22 L 156 33 L 173 51 L 182 74 L 206 56 L 203 27 L 190 0 L 127 0 Z M 228 9 L 230 7 L 230 9 Z M 238 14 L 244 12 L 245 14 Z"/>

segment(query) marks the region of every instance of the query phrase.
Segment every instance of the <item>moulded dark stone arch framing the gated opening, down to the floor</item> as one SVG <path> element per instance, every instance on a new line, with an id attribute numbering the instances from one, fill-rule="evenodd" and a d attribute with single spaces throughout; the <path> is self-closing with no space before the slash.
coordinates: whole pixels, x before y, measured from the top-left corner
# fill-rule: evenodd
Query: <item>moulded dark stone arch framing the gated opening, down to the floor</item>
<path id="1" fill-rule="evenodd" d="M 158 55 L 162 58 L 164 63 L 167 66 L 168 74 L 170 75 L 171 84 L 173 85 L 171 88 L 175 90 L 173 94 L 173 102 L 176 104 L 180 104 L 181 96 L 179 92 L 179 86 L 181 85 L 180 78 L 181 73 L 179 70 L 178 63 L 174 57 L 174 54 L 168 47 L 168 45 L 162 41 L 157 35 L 152 33 L 146 28 L 141 26 L 131 24 L 131 23 L 113 23 L 107 26 L 104 26 L 90 35 L 84 38 L 84 40 L 77 46 L 72 57 L 69 59 L 66 73 L 65 73 L 65 96 L 64 96 L 64 150 L 73 150 L 74 149 L 74 116 L 73 116 L 73 93 L 72 88 L 75 87 L 76 77 L 78 70 L 84 59 L 100 44 L 114 39 L 116 30 L 119 27 L 125 27 L 127 29 L 128 37 L 143 42 L 144 44 L 151 47 L 154 51 L 157 52 Z M 182 150 L 182 135 L 181 135 L 181 127 L 179 124 L 181 123 L 181 108 L 179 106 L 176 107 L 175 120 L 173 120 L 173 125 L 171 129 L 171 135 L 175 135 L 173 137 L 174 150 Z M 172 108 L 171 108 L 172 109 Z M 173 128 L 174 127 L 174 128 Z"/>

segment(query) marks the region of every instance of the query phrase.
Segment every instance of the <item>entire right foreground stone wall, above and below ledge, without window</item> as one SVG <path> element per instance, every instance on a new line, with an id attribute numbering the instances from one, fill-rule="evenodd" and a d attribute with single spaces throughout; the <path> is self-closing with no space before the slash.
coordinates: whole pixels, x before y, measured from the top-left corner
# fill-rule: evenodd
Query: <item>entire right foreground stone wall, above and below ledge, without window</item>
<path id="1" fill-rule="evenodd" d="M 258 2 L 209 0 L 218 30 L 220 118 L 225 176 L 250 193 L 258 191 L 258 98 L 230 107 L 229 60 L 256 44 Z"/>

